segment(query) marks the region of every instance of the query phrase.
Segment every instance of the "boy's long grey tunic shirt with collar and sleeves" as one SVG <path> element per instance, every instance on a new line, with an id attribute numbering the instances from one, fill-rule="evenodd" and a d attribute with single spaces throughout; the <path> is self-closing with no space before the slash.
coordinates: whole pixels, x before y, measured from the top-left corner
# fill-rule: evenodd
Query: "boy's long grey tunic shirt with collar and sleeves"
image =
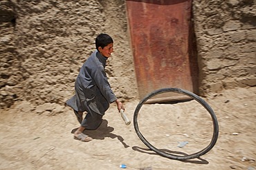
<path id="1" fill-rule="evenodd" d="M 66 104 L 76 111 L 94 111 L 104 115 L 109 103 L 117 100 L 104 70 L 107 58 L 95 50 L 82 65 L 75 80 L 75 96 Z"/>

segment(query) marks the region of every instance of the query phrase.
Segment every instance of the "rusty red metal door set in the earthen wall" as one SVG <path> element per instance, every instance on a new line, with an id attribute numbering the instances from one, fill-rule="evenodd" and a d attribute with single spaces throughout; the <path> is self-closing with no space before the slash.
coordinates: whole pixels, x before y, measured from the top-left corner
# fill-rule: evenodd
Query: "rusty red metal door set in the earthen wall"
<path id="1" fill-rule="evenodd" d="M 192 0 L 127 0 L 139 97 L 163 87 L 197 93 Z"/>

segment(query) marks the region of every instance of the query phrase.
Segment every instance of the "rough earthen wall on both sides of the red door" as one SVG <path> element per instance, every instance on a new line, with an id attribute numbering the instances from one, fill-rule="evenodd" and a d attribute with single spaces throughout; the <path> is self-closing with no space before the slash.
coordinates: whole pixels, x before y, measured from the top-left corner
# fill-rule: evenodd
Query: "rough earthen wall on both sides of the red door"
<path id="1" fill-rule="evenodd" d="M 256 85 L 253 0 L 193 1 L 200 94 Z M 138 97 L 125 0 L 0 1 L 0 105 L 62 105 L 101 32 L 115 41 L 107 74 L 118 98 Z"/>

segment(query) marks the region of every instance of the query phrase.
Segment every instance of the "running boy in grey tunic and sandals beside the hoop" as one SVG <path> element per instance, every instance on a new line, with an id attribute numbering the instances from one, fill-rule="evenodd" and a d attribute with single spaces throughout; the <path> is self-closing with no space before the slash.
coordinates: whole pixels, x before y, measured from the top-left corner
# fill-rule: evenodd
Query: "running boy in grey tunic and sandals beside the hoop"
<path id="1" fill-rule="evenodd" d="M 109 109 L 109 103 L 116 102 L 118 111 L 125 109 L 113 94 L 104 71 L 106 61 L 113 52 L 113 39 L 108 34 L 99 34 L 95 45 L 95 52 L 82 65 L 75 80 L 75 96 L 66 101 L 81 124 L 75 131 L 74 138 L 83 142 L 92 140 L 82 132 L 84 129 L 93 130 L 100 126 L 104 112 Z M 84 120 L 83 111 L 87 112 Z"/>

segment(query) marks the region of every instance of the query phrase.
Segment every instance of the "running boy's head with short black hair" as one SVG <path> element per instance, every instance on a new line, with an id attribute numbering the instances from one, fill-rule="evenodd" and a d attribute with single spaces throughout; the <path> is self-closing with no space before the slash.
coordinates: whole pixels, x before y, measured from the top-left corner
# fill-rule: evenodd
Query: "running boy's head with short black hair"
<path id="1" fill-rule="evenodd" d="M 107 58 L 113 52 L 113 39 L 108 34 L 99 34 L 95 39 L 96 49 Z"/>

